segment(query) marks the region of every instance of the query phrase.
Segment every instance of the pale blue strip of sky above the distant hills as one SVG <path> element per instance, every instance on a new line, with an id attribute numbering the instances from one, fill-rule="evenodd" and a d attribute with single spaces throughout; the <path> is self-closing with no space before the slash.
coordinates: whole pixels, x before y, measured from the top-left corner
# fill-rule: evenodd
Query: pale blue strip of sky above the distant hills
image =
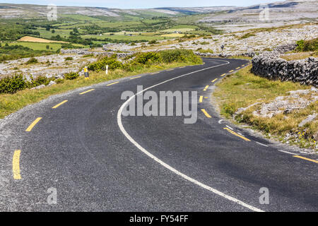
<path id="1" fill-rule="evenodd" d="M 276 0 L 279 1 L 279 0 Z M 0 3 L 38 4 L 57 6 L 99 6 L 107 8 L 157 8 L 157 7 L 201 7 L 201 6 L 252 6 L 275 2 L 271 0 L 0 0 Z"/>

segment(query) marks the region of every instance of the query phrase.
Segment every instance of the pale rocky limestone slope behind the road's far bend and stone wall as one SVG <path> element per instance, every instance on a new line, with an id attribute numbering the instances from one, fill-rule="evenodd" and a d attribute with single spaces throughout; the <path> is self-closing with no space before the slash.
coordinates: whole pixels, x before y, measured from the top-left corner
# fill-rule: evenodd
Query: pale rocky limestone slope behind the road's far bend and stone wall
<path id="1" fill-rule="evenodd" d="M 250 37 L 242 38 L 251 33 Z M 243 54 L 247 52 L 261 52 L 273 49 L 281 44 L 295 43 L 298 40 L 310 40 L 318 37 L 318 25 L 297 25 L 291 28 L 269 29 L 269 31 L 247 30 L 245 32 L 232 32 L 223 35 L 211 35 L 211 37 L 199 37 L 196 39 L 179 41 L 160 41 L 159 44 L 143 44 L 130 46 L 129 44 L 111 44 L 110 49 L 117 51 L 147 50 L 147 49 L 171 49 L 184 48 L 211 49 L 215 54 Z M 171 43 L 172 42 L 172 43 Z M 220 48 L 224 45 L 224 49 Z"/>

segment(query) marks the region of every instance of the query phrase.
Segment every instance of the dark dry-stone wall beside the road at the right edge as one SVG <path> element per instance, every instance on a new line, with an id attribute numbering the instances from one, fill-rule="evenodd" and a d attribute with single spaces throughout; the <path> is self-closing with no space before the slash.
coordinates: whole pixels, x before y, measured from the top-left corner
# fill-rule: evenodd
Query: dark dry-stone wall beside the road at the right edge
<path id="1" fill-rule="evenodd" d="M 282 51 L 282 50 L 281 50 Z M 264 52 L 252 59 L 252 72 L 270 80 L 293 81 L 318 87 L 318 60 L 314 57 L 298 61 L 281 59 L 281 52 Z"/>

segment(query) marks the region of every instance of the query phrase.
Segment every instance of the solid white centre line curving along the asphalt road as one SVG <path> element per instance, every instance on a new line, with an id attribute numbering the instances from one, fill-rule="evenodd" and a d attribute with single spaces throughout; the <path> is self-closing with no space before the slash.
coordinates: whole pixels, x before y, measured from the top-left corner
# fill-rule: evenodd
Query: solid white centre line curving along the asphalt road
<path id="1" fill-rule="evenodd" d="M 230 62 L 228 62 L 228 61 L 226 61 L 226 62 L 227 62 L 226 64 L 230 64 Z M 218 66 L 223 66 L 223 65 L 225 65 L 225 64 L 220 64 L 220 65 L 218 65 Z M 139 93 L 136 93 L 136 95 L 131 96 L 128 100 L 126 100 L 126 102 L 124 102 L 124 104 L 122 105 L 122 107 L 120 107 L 120 109 L 118 110 L 118 113 L 117 113 L 117 124 L 118 124 L 118 126 L 119 126 L 119 129 L 120 129 L 120 130 L 122 131 L 122 133 L 124 134 L 124 136 L 126 136 L 126 138 L 127 138 L 131 143 L 133 143 L 139 150 L 141 150 L 142 153 L 148 155 L 148 157 L 151 157 L 153 160 L 155 160 L 155 162 L 158 162 L 160 165 L 162 165 L 163 167 L 169 169 L 171 172 L 173 172 L 173 173 L 179 175 L 180 177 L 186 179 L 186 180 L 189 181 L 189 182 L 192 182 L 192 183 L 194 183 L 194 184 L 196 184 L 196 185 L 198 185 L 198 186 L 201 186 L 202 188 L 204 188 L 204 189 L 206 189 L 206 190 L 208 190 L 208 191 L 213 192 L 214 194 L 217 194 L 218 196 L 222 196 L 223 198 L 226 198 L 226 199 L 228 199 L 228 200 L 230 200 L 230 201 L 233 201 L 233 202 L 235 202 L 235 203 L 237 203 L 237 204 L 239 204 L 239 205 L 241 205 L 241 206 L 244 206 L 245 208 L 249 208 L 250 210 L 257 211 L 257 212 L 264 212 L 263 210 L 260 210 L 259 208 L 256 208 L 256 207 L 254 207 L 254 206 L 250 206 L 249 204 L 244 203 L 244 202 L 238 200 L 237 198 L 233 198 L 232 196 L 228 196 L 227 194 L 224 194 L 223 192 L 220 192 L 220 191 L 218 191 L 218 190 L 216 190 L 216 189 L 213 189 L 211 186 L 207 186 L 206 184 L 202 184 L 201 182 L 198 182 L 196 179 L 193 179 L 192 177 L 189 177 L 189 176 L 187 176 L 186 174 L 183 174 L 182 172 L 179 172 L 177 169 L 171 167 L 170 165 L 167 165 L 165 162 L 163 162 L 162 160 L 160 160 L 158 157 L 155 157 L 155 155 L 149 153 L 148 150 L 146 150 L 146 149 L 143 148 L 141 145 L 139 145 L 139 143 L 137 143 L 137 142 L 129 135 L 129 133 L 127 133 L 127 131 L 124 129 L 124 126 L 123 126 L 123 124 L 122 124 L 122 111 L 123 111 L 124 107 L 126 107 L 126 105 L 128 105 L 128 103 L 129 103 L 132 99 L 134 99 L 137 95 L 140 95 L 141 93 L 145 92 L 146 90 L 149 90 L 149 89 L 151 89 L 151 88 L 154 88 L 154 87 L 156 87 L 156 86 L 158 86 L 158 85 L 162 85 L 162 84 L 167 83 L 167 82 L 169 82 L 169 81 L 175 80 L 175 79 L 177 79 L 177 78 L 182 78 L 182 77 L 184 77 L 184 76 L 189 76 L 189 75 L 191 75 L 191 74 L 193 74 L 193 73 L 197 73 L 197 72 L 200 72 L 200 71 L 205 71 L 205 70 L 208 70 L 208 69 L 213 69 L 213 68 L 216 68 L 216 67 L 218 67 L 218 66 L 211 66 L 211 67 L 208 67 L 208 68 L 206 68 L 206 69 L 201 69 L 201 70 L 199 70 L 199 71 L 193 71 L 193 72 L 190 72 L 190 73 L 186 73 L 186 74 L 184 74 L 184 75 L 182 75 L 182 76 L 177 76 L 177 77 L 175 77 L 175 78 L 171 78 L 171 79 L 169 79 L 169 80 L 167 80 L 167 81 L 163 81 L 162 83 L 158 83 L 158 84 L 156 84 L 156 85 L 153 85 L 153 86 L 151 86 L 151 87 L 149 87 L 149 88 L 146 88 L 146 89 L 142 90 L 142 91 L 139 92 Z"/>

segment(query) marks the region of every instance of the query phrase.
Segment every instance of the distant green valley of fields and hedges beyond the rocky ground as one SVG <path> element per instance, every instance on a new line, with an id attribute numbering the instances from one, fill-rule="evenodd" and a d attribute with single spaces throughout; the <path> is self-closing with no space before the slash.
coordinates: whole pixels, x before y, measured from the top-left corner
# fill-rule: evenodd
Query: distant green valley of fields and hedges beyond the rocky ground
<path id="1" fill-rule="evenodd" d="M 47 49 L 45 43 L 16 40 L 31 36 L 68 42 L 69 46 L 64 44 L 64 48 L 101 47 L 102 44 L 112 42 L 171 40 L 184 35 L 211 35 L 213 32 L 211 28 L 204 28 L 203 25 L 193 22 L 199 16 L 185 16 L 183 13 L 175 16 L 155 10 L 134 12 L 137 14 L 119 12 L 119 16 L 85 16 L 76 11 L 69 11 L 67 14 L 59 14 L 57 21 L 48 21 L 47 18 L 0 19 L 0 42 L 8 42 L 9 45 L 20 44 L 35 51 L 56 52 L 61 48 L 61 43 L 48 44 Z"/>

